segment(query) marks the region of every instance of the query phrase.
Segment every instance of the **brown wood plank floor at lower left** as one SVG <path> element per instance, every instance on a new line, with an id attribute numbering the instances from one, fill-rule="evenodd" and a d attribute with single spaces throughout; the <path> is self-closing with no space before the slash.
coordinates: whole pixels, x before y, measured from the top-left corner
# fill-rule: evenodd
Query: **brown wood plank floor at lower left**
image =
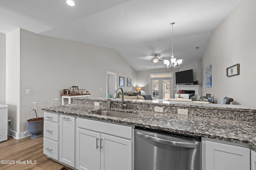
<path id="1" fill-rule="evenodd" d="M 20 140 L 11 138 L 0 142 L 0 170 L 60 170 L 70 168 L 47 158 L 43 154 L 43 137 L 30 139 L 26 137 Z M 12 161 L 14 164 L 2 164 L 2 160 Z M 36 161 L 36 164 L 31 164 Z M 20 162 L 19 162 L 20 161 Z M 23 161 L 25 161 L 25 164 Z"/>

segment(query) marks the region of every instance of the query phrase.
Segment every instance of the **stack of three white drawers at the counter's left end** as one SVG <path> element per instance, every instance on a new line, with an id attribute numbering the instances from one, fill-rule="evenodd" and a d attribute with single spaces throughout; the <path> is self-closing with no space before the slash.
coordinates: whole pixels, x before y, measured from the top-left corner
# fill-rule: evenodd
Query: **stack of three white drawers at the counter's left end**
<path id="1" fill-rule="evenodd" d="M 58 160 L 59 115 L 44 112 L 44 154 Z"/>

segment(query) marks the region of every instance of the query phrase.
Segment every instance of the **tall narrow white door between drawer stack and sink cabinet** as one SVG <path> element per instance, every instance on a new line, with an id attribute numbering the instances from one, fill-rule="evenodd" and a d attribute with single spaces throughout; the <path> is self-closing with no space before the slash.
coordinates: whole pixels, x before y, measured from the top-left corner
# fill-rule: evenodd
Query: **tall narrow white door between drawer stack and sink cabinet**
<path id="1" fill-rule="evenodd" d="M 60 115 L 59 161 L 75 166 L 75 117 Z"/>

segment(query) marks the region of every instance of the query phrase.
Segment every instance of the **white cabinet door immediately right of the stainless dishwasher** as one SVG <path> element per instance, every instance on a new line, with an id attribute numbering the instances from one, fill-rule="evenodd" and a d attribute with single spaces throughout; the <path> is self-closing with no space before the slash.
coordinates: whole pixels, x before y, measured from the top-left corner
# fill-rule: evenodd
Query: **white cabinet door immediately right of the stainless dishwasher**
<path id="1" fill-rule="evenodd" d="M 205 141 L 206 170 L 250 170 L 250 149 Z"/>

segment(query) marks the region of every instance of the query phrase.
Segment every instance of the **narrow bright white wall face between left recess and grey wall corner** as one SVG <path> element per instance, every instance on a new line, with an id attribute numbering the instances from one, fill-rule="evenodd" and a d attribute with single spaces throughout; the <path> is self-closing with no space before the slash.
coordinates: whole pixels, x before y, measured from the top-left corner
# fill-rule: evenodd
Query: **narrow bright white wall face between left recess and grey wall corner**
<path id="1" fill-rule="evenodd" d="M 20 132 L 20 29 L 6 34 L 6 104 L 10 128 Z M 13 135 L 13 134 L 12 134 Z"/>

